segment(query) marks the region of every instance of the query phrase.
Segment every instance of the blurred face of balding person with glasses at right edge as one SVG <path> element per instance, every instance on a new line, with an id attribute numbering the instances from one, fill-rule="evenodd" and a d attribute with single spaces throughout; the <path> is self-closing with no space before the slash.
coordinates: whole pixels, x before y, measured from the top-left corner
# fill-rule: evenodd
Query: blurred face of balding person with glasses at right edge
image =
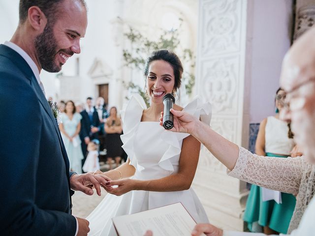
<path id="1" fill-rule="evenodd" d="M 291 120 L 296 143 L 315 163 L 315 28 L 293 44 L 283 61 L 281 87 L 286 91 L 280 117 Z"/>

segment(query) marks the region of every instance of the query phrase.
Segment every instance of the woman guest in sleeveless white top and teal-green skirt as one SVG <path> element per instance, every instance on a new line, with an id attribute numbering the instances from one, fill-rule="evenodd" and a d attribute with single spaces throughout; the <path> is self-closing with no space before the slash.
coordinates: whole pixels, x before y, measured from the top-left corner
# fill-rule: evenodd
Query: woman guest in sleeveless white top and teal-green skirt
<path id="1" fill-rule="evenodd" d="M 279 118 L 279 112 L 284 107 L 284 99 L 285 91 L 279 88 L 275 98 L 276 115 L 264 118 L 259 126 L 255 145 L 257 155 L 286 158 L 294 147 L 290 126 Z M 264 200 L 268 194 L 272 194 L 274 199 Z M 263 227 L 263 232 L 267 235 L 286 234 L 294 207 L 295 197 L 292 194 L 281 193 L 253 184 L 243 219 L 247 222 L 251 232 L 262 232 Z"/>

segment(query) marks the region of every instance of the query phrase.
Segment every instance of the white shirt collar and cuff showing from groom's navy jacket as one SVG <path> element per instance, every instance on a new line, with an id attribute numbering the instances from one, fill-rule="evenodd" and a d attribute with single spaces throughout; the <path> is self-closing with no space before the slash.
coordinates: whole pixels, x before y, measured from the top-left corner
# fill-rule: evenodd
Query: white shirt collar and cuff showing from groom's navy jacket
<path id="1" fill-rule="evenodd" d="M 43 84 L 41 83 L 40 81 L 40 78 L 39 78 L 39 71 L 38 71 L 38 68 L 35 64 L 35 62 L 32 60 L 32 58 L 22 49 L 20 48 L 18 45 L 16 45 L 15 43 L 12 43 L 12 42 L 9 42 L 9 41 L 5 41 L 4 42 L 4 45 L 11 48 L 12 50 L 14 50 L 15 52 L 17 52 L 18 54 L 20 54 L 20 56 L 26 60 L 26 62 L 29 64 L 29 66 L 31 67 L 32 69 L 32 72 L 34 73 L 35 75 L 35 78 L 39 84 L 39 87 L 41 88 L 42 92 L 44 93 L 45 95 L 45 89 L 44 89 L 44 86 Z M 76 229 L 76 232 L 75 232 L 75 235 L 76 236 L 78 234 L 78 230 L 79 230 L 79 224 L 78 224 L 78 220 L 76 217 L 74 217 L 75 220 L 76 220 L 76 223 L 77 223 L 77 229 Z"/>

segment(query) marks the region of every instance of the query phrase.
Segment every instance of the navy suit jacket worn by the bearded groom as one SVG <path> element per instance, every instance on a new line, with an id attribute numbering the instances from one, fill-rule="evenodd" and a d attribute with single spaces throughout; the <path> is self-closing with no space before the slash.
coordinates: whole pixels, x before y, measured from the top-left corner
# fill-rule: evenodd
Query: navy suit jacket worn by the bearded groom
<path id="1" fill-rule="evenodd" d="M 69 161 L 28 63 L 0 45 L 0 235 L 74 236 Z"/>

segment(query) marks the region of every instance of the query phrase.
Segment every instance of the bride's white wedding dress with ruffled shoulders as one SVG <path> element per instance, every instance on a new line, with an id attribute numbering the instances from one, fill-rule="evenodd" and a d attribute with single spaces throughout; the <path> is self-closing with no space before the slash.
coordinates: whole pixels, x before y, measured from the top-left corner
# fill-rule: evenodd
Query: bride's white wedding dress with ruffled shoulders
<path id="1" fill-rule="evenodd" d="M 136 172 L 132 178 L 140 180 L 158 179 L 178 172 L 183 139 L 189 134 L 164 130 L 159 122 L 141 122 L 146 109 L 143 98 L 134 94 L 122 111 L 124 143 L 130 165 Z M 185 111 L 210 123 L 211 105 L 202 104 L 195 98 Z M 112 218 L 143 210 L 181 202 L 197 223 L 209 223 L 198 197 L 189 188 L 184 191 L 151 192 L 130 191 L 122 196 L 107 194 L 102 202 L 87 217 L 90 221 L 89 236 L 116 236 Z"/>

